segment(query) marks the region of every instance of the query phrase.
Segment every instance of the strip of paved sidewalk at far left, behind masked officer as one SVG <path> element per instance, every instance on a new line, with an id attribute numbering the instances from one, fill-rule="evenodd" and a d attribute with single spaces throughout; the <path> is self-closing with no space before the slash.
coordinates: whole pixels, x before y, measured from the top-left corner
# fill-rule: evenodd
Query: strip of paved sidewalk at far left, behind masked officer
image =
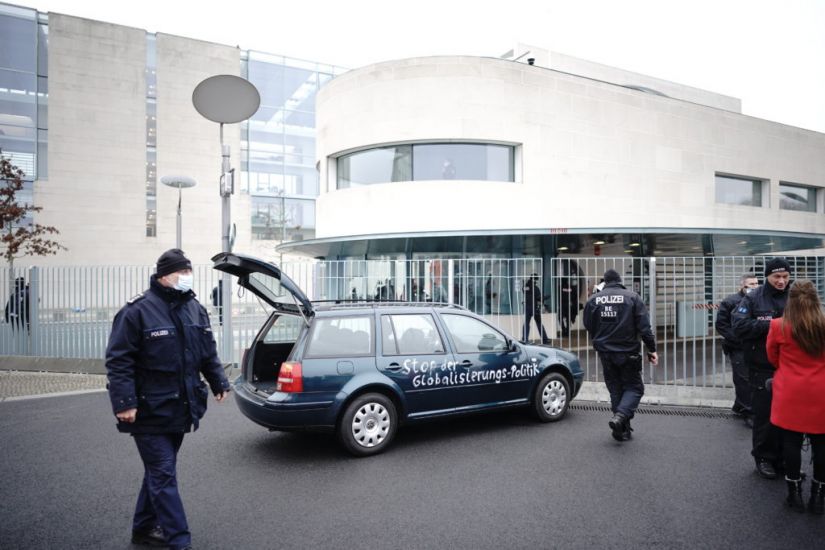
<path id="1" fill-rule="evenodd" d="M 103 391 L 104 374 L 64 374 L 0 370 L 0 401 Z"/>

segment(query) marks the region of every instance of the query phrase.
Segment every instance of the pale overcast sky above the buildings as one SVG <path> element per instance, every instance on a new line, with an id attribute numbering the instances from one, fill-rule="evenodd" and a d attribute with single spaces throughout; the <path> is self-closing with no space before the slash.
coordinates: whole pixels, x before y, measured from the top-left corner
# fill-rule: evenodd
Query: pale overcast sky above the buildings
<path id="1" fill-rule="evenodd" d="M 825 0 L 11 0 L 346 68 L 532 44 L 825 132 Z"/>

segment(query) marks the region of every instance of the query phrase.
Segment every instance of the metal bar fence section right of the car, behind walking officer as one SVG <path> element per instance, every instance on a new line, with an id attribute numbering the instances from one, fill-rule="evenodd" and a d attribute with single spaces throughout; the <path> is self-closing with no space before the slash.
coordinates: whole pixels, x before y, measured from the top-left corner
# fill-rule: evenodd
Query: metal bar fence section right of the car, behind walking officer
<path id="1" fill-rule="evenodd" d="M 579 354 L 587 380 L 601 379 L 598 357 L 584 330 L 581 310 L 607 269 L 648 305 L 656 327 L 659 365 L 648 366 L 645 381 L 697 387 L 731 387 L 731 372 L 716 334 L 716 310 L 754 273 L 763 282 L 765 256 L 554 258 L 548 266 L 547 324 L 553 343 Z M 825 297 L 825 258 L 786 257 L 793 279 L 812 280 Z"/>

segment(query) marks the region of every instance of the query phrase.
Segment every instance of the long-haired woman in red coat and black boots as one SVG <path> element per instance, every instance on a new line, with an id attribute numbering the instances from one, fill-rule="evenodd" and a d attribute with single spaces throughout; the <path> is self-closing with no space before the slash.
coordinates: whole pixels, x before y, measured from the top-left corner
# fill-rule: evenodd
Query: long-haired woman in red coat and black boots
<path id="1" fill-rule="evenodd" d="M 771 320 L 768 359 L 773 378 L 771 424 L 782 428 L 782 454 L 788 506 L 805 511 L 802 502 L 802 442 L 811 441 L 814 477 L 808 510 L 825 513 L 825 314 L 810 281 L 796 281 L 783 317 Z"/>

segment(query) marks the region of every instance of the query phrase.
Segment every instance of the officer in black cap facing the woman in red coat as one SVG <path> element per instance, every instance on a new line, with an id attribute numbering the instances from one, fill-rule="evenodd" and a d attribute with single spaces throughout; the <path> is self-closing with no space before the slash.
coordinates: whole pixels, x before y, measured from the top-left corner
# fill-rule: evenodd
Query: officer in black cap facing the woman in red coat
<path id="1" fill-rule="evenodd" d="M 766 382 L 774 368 L 768 361 L 765 342 L 771 319 L 782 317 L 788 301 L 791 266 L 785 258 L 765 264 L 765 284 L 742 297 L 733 313 L 733 332 L 742 342 L 751 386 L 753 410 L 753 455 L 757 473 L 776 479 L 782 457 L 780 435 L 771 425 L 771 392 Z"/>

